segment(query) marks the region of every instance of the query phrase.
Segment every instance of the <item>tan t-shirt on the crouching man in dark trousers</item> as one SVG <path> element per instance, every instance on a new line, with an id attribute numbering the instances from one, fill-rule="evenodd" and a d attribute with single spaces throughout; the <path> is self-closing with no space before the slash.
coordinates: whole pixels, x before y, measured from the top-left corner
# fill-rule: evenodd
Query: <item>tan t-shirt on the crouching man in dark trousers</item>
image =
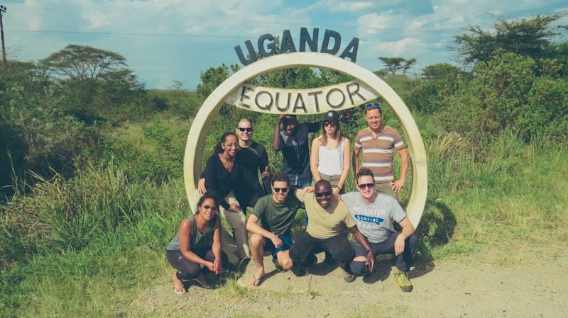
<path id="1" fill-rule="evenodd" d="M 320 203 L 315 200 L 314 193 L 307 193 L 302 196 L 300 191 L 296 192 L 298 200 L 306 205 L 307 234 L 316 239 L 329 239 L 344 231 L 345 227 L 354 227 L 355 221 L 349 213 L 349 208 L 343 201 L 332 203 L 326 208 L 322 208 Z"/>

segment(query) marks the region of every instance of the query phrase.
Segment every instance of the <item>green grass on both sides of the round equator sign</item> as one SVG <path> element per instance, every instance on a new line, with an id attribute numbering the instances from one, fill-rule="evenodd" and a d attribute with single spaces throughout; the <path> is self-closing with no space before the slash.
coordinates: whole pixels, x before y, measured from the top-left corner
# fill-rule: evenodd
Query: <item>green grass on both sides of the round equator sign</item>
<path id="1" fill-rule="evenodd" d="M 269 145 L 273 122 L 257 119 L 256 127 L 262 128 L 256 139 Z M 31 194 L 16 195 L 1 206 L 1 316 L 184 316 L 171 308 L 148 312 L 146 304 L 138 304 L 141 291 L 170 283 L 172 270 L 164 247 L 190 213 L 181 179 L 160 170 L 160 164 L 181 166 L 189 129 L 189 125 L 173 127 L 170 120 L 174 119 L 116 128 L 114 138 L 136 151 L 124 150 L 127 155 L 120 157 L 117 150 L 107 164 L 89 166 L 69 180 L 57 177 L 39 182 Z M 214 127 L 232 127 L 233 122 L 234 118 L 218 116 Z M 430 186 L 417 229 L 423 261 L 479 253 L 495 254 L 494 263 L 507 265 L 530 262 L 545 247 L 557 252 L 565 249 L 565 143 L 543 138 L 526 144 L 515 135 L 503 134 L 485 147 L 476 147 L 459 135 L 437 132 L 433 125 L 420 127 L 425 127 Z M 212 130 L 206 148 L 212 149 L 221 133 L 219 128 Z M 168 148 L 177 150 L 167 152 Z M 271 162 L 280 160 L 269 147 L 268 154 Z M 144 157 L 151 159 L 143 161 Z M 139 174 L 144 165 L 167 177 L 151 181 Z M 348 180 L 347 189 L 352 191 L 353 179 Z M 410 180 L 403 202 L 409 190 Z M 302 219 L 300 212 L 295 232 L 302 231 Z M 509 256 L 502 257 L 505 252 Z M 268 297 L 238 285 L 236 277 L 216 293 L 231 299 Z M 364 308 L 351 317 L 366 317 L 373 310 Z M 376 315 L 399 316 L 406 311 L 393 307 Z M 244 312 L 243 317 L 249 313 L 256 315 Z M 202 317 L 207 307 L 195 308 L 194 314 Z"/>

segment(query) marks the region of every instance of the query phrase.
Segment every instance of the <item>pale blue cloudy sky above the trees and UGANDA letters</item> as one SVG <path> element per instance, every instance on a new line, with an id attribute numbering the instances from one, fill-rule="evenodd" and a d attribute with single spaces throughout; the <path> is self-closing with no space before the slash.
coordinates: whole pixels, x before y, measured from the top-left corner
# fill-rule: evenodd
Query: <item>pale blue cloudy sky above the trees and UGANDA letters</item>
<path id="1" fill-rule="evenodd" d="M 342 52 L 361 39 L 357 64 L 383 68 L 378 57 L 415 57 L 414 72 L 454 63 L 452 37 L 468 24 L 488 27 L 498 16 L 521 18 L 567 10 L 565 0 L 299 1 L 299 0 L 26 0 L 6 1 L 9 58 L 38 60 L 68 44 L 118 52 L 148 88 L 173 80 L 195 89 L 200 72 L 240 64 L 233 47 L 259 35 L 300 28 L 336 30 Z M 562 24 L 567 25 L 564 19 Z M 338 54 L 339 55 L 339 54 Z"/>

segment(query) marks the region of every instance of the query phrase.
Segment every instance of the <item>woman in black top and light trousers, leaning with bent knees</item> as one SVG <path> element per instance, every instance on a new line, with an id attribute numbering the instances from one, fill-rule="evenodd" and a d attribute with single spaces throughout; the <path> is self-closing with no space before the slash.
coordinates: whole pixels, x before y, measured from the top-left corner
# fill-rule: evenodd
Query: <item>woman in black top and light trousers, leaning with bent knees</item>
<path id="1" fill-rule="evenodd" d="M 239 139 L 232 132 L 225 132 L 215 153 L 205 166 L 205 188 L 219 204 L 219 214 L 233 228 L 234 238 L 241 259 L 249 258 L 249 239 L 246 234 L 246 217 L 243 211 L 254 206 L 263 189 L 258 177 L 240 164 L 237 154 Z M 226 244 L 224 244 L 226 246 Z"/>

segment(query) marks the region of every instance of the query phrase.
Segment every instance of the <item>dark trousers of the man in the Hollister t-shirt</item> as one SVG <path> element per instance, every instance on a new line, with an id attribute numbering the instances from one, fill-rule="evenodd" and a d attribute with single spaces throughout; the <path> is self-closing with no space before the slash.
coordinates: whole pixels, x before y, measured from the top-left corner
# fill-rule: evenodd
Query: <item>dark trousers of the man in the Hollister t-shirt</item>
<path id="1" fill-rule="evenodd" d="M 381 243 L 371 243 L 371 248 L 375 255 L 378 254 L 395 254 L 395 240 L 400 232 L 392 232 L 386 240 Z M 403 254 L 396 256 L 396 268 L 400 271 L 410 271 L 410 266 L 416 260 L 416 252 L 418 251 L 418 238 L 415 234 L 410 235 L 404 241 Z M 366 250 L 359 243 L 355 243 L 355 257 L 367 256 Z M 364 261 L 353 261 L 351 263 L 351 273 L 356 276 L 364 275 L 367 272 Z"/>

